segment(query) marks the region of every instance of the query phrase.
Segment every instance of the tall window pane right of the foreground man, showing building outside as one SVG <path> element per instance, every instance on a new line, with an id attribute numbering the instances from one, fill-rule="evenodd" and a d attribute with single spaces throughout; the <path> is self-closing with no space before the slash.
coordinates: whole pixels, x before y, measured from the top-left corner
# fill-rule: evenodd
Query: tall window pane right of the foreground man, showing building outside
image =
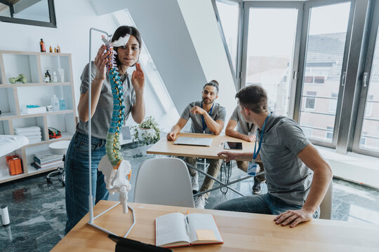
<path id="1" fill-rule="evenodd" d="M 333 141 L 349 13 L 350 2 L 310 8 L 299 121 L 317 129 L 310 138 L 318 141 Z"/>

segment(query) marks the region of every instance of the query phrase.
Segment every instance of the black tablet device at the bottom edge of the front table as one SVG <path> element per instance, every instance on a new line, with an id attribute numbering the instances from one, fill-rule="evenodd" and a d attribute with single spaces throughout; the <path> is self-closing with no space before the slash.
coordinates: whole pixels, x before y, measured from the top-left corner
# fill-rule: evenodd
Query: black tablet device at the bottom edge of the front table
<path id="1" fill-rule="evenodd" d="M 152 244 L 145 244 L 140 241 L 135 241 L 133 239 L 128 239 L 124 237 L 118 237 L 116 235 L 108 235 L 110 239 L 112 239 L 114 242 L 116 242 L 116 252 L 121 251 L 130 251 L 130 252 L 139 252 L 139 251 L 162 251 L 162 252 L 169 252 L 173 251 L 170 248 L 161 248 L 159 246 L 155 246 Z"/>

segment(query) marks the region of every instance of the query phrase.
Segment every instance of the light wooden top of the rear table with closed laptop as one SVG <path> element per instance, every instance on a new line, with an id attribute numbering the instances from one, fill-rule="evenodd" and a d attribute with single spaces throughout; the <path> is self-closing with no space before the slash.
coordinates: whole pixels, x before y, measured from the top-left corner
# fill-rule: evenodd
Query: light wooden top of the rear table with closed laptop
<path id="1" fill-rule="evenodd" d="M 160 154 L 160 155 L 174 155 L 181 157 L 196 157 L 196 158 L 211 158 L 211 159 L 225 159 L 219 157 L 217 153 L 224 151 L 223 143 L 225 141 L 237 141 L 242 143 L 242 150 L 233 150 L 233 152 L 253 152 L 254 143 L 237 139 L 235 137 L 229 137 L 226 135 L 214 135 L 214 134 L 198 134 L 198 133 L 180 133 L 178 137 L 199 137 L 199 138 L 211 138 L 213 139 L 211 146 L 185 146 L 173 144 L 174 141 L 168 141 L 165 138 L 161 138 L 154 146 L 149 148 L 146 153 L 148 154 Z M 251 160 L 246 160 L 251 161 Z"/>

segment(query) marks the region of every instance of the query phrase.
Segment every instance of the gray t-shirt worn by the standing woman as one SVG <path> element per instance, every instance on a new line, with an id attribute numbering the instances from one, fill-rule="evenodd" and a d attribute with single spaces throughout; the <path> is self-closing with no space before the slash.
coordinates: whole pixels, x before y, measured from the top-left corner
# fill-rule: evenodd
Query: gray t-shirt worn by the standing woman
<path id="1" fill-rule="evenodd" d="M 81 73 L 81 85 L 80 85 L 80 93 L 85 94 L 88 90 L 88 64 L 84 67 L 83 73 Z M 95 63 L 91 64 L 91 82 L 95 78 L 96 75 L 96 66 Z M 127 75 L 120 76 L 121 81 L 123 82 L 124 87 L 124 105 L 125 105 L 125 120 L 128 119 L 129 114 L 131 113 L 131 109 L 133 104 L 135 104 L 135 92 L 133 85 Z M 107 139 L 107 132 L 109 130 L 109 125 L 112 118 L 113 112 L 113 96 L 112 96 L 112 88 L 109 82 L 108 76 L 105 78 L 102 83 L 100 97 L 98 106 L 96 107 L 95 113 L 91 118 L 91 134 L 92 137 L 96 137 L 98 139 Z M 79 123 L 77 124 L 77 131 L 88 134 L 88 121 L 84 123 L 79 119 Z"/>

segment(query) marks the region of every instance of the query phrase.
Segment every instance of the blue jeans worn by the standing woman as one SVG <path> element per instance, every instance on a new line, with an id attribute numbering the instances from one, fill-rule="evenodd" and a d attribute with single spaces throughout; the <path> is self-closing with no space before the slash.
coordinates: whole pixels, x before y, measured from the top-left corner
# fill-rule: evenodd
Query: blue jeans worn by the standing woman
<path id="1" fill-rule="evenodd" d="M 98 171 L 99 162 L 106 155 L 105 139 L 91 138 L 91 155 L 92 196 L 96 204 L 100 200 L 108 200 L 109 197 L 104 175 Z M 89 211 L 88 156 L 88 135 L 75 132 L 67 149 L 65 160 L 66 234 Z"/>

